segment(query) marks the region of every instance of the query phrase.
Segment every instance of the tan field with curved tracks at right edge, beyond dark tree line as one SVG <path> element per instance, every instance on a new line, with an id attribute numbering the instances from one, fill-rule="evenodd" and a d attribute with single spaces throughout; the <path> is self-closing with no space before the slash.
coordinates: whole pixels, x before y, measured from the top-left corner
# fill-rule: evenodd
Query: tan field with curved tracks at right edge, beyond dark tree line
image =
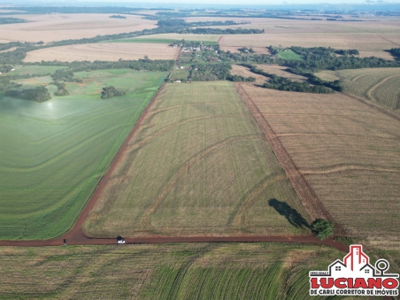
<path id="1" fill-rule="evenodd" d="M 400 112 L 400 68 L 322 71 L 317 75 L 326 80 L 341 80 L 347 93 Z"/>

